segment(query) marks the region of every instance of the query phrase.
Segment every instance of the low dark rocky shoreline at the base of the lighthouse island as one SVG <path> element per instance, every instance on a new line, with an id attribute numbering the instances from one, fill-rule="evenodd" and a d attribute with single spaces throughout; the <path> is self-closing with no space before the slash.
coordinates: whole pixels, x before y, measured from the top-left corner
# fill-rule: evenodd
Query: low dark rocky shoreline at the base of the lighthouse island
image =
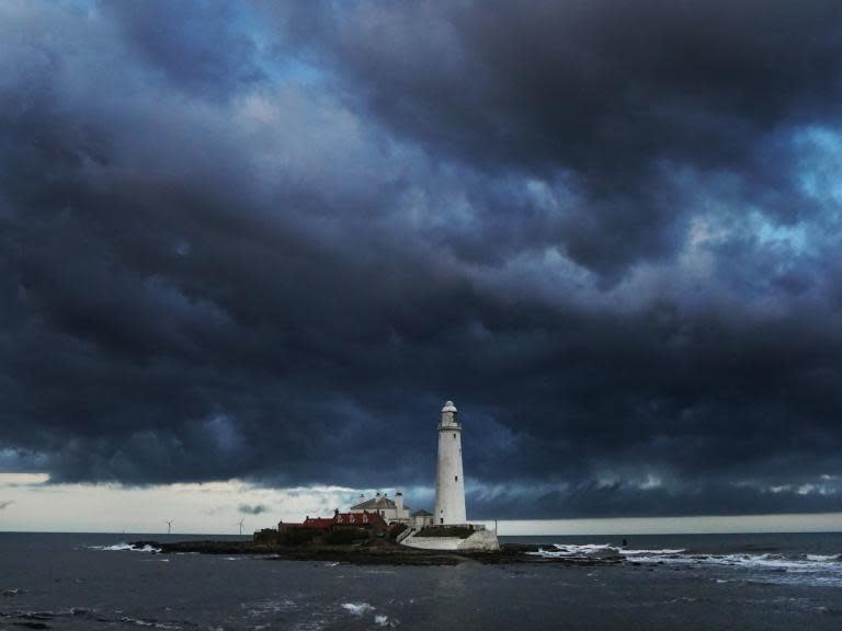
<path id="1" fill-rule="evenodd" d="M 624 563 L 623 557 L 613 549 L 602 550 L 598 554 L 548 559 L 534 554 L 539 546 L 523 543 L 503 543 L 500 550 L 442 551 L 408 548 L 397 543 L 379 541 L 356 546 L 277 546 L 254 543 L 252 541 L 178 541 L 161 543 L 158 541 L 135 541 L 130 544 L 137 550 L 155 550 L 161 554 L 243 554 L 268 560 L 316 561 L 323 563 L 350 563 L 355 565 L 457 565 L 459 563 L 497 564 L 550 564 L 550 565 L 617 565 Z"/>

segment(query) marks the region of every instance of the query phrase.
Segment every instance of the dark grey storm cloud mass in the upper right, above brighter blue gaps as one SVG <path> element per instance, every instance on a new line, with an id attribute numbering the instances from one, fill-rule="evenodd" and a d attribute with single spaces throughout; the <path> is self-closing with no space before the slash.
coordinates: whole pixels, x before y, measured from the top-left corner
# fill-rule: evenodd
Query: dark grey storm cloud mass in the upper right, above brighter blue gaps
<path id="1" fill-rule="evenodd" d="M 746 170 L 750 198 L 767 198 L 787 183 L 761 138 L 839 117 L 833 1 L 316 7 L 283 23 L 310 25 L 299 36 L 396 133 L 494 173 L 569 172 L 588 199 L 554 237 L 605 274 L 674 252 L 683 215 L 664 163 Z"/>

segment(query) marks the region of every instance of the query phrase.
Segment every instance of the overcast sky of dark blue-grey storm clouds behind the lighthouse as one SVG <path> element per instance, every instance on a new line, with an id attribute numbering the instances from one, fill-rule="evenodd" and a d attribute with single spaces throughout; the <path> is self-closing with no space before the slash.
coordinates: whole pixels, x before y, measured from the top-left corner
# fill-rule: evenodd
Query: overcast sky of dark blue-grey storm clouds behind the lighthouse
<path id="1" fill-rule="evenodd" d="M 0 0 L 0 528 L 842 510 L 842 3 L 284 5 Z"/>

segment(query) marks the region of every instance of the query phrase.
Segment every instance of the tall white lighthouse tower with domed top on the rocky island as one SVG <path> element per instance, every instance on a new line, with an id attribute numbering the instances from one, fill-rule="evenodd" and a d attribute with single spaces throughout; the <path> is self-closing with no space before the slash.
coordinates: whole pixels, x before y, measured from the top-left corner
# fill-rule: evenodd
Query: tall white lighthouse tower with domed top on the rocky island
<path id="1" fill-rule="evenodd" d="M 456 405 L 447 401 L 439 423 L 439 466 L 435 470 L 434 524 L 466 524 L 465 479 L 462 472 L 462 425 Z"/>

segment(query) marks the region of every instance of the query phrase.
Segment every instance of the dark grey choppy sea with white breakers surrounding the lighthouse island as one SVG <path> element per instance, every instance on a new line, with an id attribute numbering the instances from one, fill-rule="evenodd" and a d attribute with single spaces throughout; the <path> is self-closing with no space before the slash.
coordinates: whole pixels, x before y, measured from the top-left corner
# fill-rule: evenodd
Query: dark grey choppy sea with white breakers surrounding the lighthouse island
<path id="1" fill-rule="evenodd" d="M 625 537 L 627 562 L 608 566 L 356 566 L 130 550 L 140 538 L 191 537 L 0 532 L 0 629 L 842 629 L 842 534 Z M 539 543 L 548 558 L 623 542 L 502 539 Z"/>

